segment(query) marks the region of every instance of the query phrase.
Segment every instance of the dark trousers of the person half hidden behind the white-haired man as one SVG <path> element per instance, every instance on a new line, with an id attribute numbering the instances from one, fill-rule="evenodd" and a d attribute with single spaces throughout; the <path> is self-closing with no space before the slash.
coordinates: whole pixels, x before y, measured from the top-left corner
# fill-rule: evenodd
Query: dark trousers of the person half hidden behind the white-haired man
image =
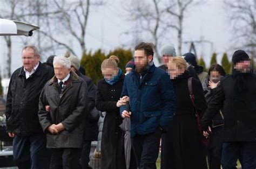
<path id="1" fill-rule="evenodd" d="M 90 151 L 91 151 L 91 141 L 83 142 L 82 154 L 80 157 L 80 164 L 83 169 L 90 169 L 89 161 L 90 161 Z"/>

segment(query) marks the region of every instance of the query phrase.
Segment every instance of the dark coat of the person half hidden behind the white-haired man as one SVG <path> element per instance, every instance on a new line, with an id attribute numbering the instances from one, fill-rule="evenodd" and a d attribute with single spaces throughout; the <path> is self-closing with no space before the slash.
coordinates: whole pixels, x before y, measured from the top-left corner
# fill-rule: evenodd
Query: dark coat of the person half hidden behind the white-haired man
<path id="1" fill-rule="evenodd" d="M 82 78 L 88 87 L 88 114 L 85 117 L 84 124 L 84 140 L 95 141 L 98 138 L 98 119 L 99 111 L 96 106 L 96 91 L 97 87 L 92 79 L 78 72 L 77 75 Z"/>

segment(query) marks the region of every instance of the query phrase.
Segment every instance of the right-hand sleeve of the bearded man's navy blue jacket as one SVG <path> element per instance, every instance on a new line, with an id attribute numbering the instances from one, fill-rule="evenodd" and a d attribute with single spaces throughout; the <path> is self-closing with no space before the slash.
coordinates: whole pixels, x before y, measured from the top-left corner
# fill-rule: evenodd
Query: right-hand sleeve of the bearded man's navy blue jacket
<path id="1" fill-rule="evenodd" d="M 159 125 L 161 128 L 165 128 L 169 121 L 173 118 L 176 110 L 175 93 L 170 76 L 165 73 L 162 75 L 159 82 L 159 89 L 161 94 L 161 100 L 163 101 L 163 108 L 160 117 Z"/>

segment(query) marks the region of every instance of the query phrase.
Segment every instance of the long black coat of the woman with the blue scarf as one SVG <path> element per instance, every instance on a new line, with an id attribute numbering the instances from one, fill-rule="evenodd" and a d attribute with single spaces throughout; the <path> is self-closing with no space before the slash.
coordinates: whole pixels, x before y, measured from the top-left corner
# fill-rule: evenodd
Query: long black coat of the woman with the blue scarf
<path id="1" fill-rule="evenodd" d="M 119 108 L 116 104 L 123 88 L 122 78 L 109 85 L 104 79 L 98 81 L 96 107 L 99 111 L 106 111 L 102 131 L 102 169 L 122 169 L 125 166 L 124 132 L 119 128 L 122 123 Z"/>

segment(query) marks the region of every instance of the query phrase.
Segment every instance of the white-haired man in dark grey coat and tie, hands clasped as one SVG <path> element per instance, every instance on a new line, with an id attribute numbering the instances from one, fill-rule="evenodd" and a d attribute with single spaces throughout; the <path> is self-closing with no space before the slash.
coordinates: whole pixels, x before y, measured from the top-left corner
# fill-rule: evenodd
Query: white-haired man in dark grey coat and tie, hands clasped
<path id="1" fill-rule="evenodd" d="M 69 59 L 55 57 L 53 67 L 55 76 L 44 86 L 38 112 L 47 147 L 52 149 L 50 168 L 80 168 L 87 85 L 71 71 Z M 50 112 L 45 110 L 46 105 Z"/>

